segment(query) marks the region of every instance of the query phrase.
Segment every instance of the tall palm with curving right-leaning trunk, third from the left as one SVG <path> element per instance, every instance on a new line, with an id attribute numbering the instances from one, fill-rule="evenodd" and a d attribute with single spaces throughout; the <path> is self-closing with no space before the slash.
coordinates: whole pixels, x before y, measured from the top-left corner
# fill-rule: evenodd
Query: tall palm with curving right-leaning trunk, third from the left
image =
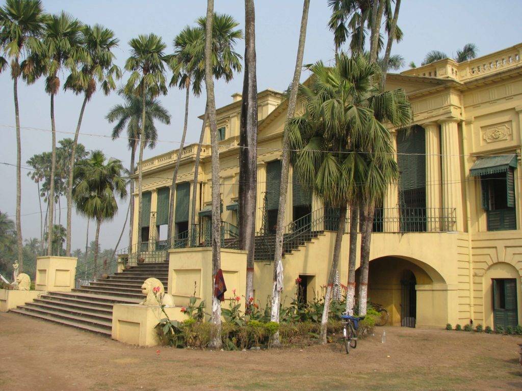
<path id="1" fill-rule="evenodd" d="M 73 148 L 69 158 L 67 182 L 67 238 L 65 245 L 65 255 L 70 256 L 71 240 L 71 218 L 73 210 L 73 172 L 76 158 L 76 146 L 81 127 L 81 120 L 84 117 L 85 106 L 97 89 L 97 83 L 105 95 L 108 95 L 116 88 L 114 79 L 120 79 L 120 68 L 114 65 L 114 53 L 118 46 L 118 39 L 114 32 L 100 25 L 84 26 L 81 30 L 81 44 L 85 49 L 85 58 L 82 59 L 81 67 L 78 71 L 73 71 L 65 81 L 64 89 L 72 90 L 75 94 L 84 94 L 84 102 L 81 105 L 78 124 L 74 135 Z"/>

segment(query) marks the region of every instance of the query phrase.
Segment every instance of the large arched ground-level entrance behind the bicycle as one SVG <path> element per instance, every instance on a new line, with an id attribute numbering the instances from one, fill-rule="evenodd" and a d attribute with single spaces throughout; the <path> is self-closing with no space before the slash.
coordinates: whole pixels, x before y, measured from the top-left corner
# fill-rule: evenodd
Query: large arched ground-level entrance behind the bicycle
<path id="1" fill-rule="evenodd" d="M 384 256 L 370 262 L 368 300 L 384 306 L 388 324 L 416 327 L 444 326 L 450 291 L 433 267 L 419 260 Z M 357 271 L 357 281 L 358 273 Z"/>

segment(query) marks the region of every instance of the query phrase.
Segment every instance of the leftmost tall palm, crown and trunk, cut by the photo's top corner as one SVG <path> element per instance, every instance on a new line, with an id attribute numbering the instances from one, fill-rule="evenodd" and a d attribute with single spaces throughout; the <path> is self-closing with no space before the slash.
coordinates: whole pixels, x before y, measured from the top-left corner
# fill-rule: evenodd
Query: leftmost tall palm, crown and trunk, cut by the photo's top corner
<path id="1" fill-rule="evenodd" d="M 13 79 L 16 124 L 16 231 L 19 270 L 23 271 L 21 210 L 21 141 L 20 110 L 18 106 L 18 78 L 20 59 L 27 56 L 36 46 L 42 34 L 46 15 L 40 0 L 6 0 L 0 7 L 0 73 L 10 60 Z M 3 55 L 5 54 L 5 56 Z"/>

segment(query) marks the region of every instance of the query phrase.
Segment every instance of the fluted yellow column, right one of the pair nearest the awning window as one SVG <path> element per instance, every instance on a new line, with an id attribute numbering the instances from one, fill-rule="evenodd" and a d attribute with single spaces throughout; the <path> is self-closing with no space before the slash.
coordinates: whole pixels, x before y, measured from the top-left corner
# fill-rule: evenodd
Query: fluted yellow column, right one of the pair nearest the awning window
<path id="1" fill-rule="evenodd" d="M 460 153 L 458 139 L 459 120 L 454 117 L 438 121 L 441 124 L 442 145 L 442 214 L 452 216 L 455 208 L 456 227 L 446 225 L 448 230 L 462 231 L 462 191 L 460 177 Z"/>

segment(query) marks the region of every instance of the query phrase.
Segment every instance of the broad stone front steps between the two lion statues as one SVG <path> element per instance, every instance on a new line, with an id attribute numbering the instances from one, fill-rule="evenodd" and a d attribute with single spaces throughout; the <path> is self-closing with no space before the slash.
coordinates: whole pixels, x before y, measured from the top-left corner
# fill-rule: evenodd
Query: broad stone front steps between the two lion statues
<path id="1" fill-rule="evenodd" d="M 110 336 L 113 304 L 143 300 L 141 285 L 149 277 L 158 278 L 167 290 L 168 276 L 168 262 L 141 263 L 70 292 L 49 292 L 10 311 Z"/>

